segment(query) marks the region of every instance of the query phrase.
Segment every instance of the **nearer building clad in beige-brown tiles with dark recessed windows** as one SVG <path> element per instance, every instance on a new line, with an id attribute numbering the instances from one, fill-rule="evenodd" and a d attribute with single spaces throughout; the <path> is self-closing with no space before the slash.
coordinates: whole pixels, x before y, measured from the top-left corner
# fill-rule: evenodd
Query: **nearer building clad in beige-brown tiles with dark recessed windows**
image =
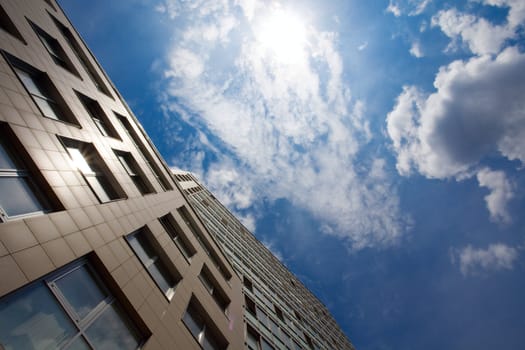
<path id="1" fill-rule="evenodd" d="M 58 4 L 0 0 L 0 349 L 245 348 L 217 237 Z"/>

